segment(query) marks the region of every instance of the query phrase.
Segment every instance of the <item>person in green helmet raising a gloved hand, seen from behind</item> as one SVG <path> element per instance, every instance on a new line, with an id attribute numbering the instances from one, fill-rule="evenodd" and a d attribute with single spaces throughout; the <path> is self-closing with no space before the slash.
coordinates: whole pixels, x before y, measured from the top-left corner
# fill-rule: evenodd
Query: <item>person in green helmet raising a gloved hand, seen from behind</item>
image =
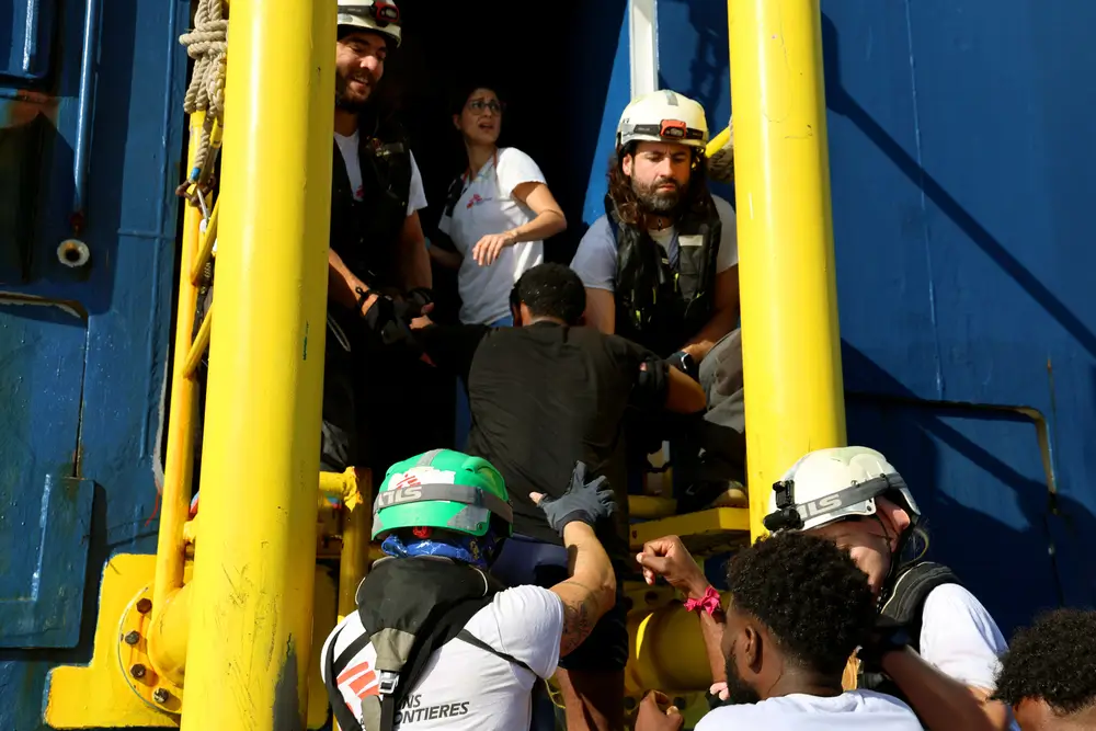
<path id="1" fill-rule="evenodd" d="M 386 557 L 357 590 L 357 612 L 320 658 L 343 731 L 527 729 L 538 678 L 556 672 L 615 601 L 592 526 L 616 509 L 579 462 L 558 499 L 536 495 L 574 556 L 551 589 L 505 589 L 489 569 L 512 534 L 502 476 L 484 459 L 437 449 L 393 465 L 374 504 Z"/>

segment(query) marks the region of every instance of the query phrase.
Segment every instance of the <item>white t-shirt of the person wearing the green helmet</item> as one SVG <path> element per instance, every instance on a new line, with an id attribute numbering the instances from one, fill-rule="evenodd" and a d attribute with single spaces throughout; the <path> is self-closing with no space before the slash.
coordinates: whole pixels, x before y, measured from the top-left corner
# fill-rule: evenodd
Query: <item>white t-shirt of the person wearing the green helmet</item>
<path id="1" fill-rule="evenodd" d="M 340 629 L 345 631 L 339 632 Z M 529 673 L 502 658 L 459 639 L 446 642 L 426 664 L 419 684 L 396 711 L 396 728 L 403 731 L 512 731 L 527 729 L 532 720 L 532 692 L 537 677 L 548 678 L 559 663 L 563 632 L 563 602 L 539 586 L 516 586 L 500 592 L 480 609 L 465 629 L 492 648 L 521 660 Z M 327 658 L 338 632 L 335 658 L 364 630 L 357 613 L 343 619 L 323 643 Z M 339 676 L 339 689 L 354 713 L 362 718 L 362 698 L 378 695 L 379 677 L 373 671 L 377 651 L 367 644 Z M 326 673 L 327 669 L 321 669 Z"/>

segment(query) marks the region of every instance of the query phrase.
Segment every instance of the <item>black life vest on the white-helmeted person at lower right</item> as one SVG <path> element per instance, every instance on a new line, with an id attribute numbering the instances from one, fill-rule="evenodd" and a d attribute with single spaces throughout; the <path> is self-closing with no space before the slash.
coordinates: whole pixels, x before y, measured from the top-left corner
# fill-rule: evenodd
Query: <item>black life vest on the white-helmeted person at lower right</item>
<path id="1" fill-rule="evenodd" d="M 899 570 L 893 589 L 879 612 L 877 626 L 887 631 L 901 630 L 911 648 L 921 652 L 921 627 L 925 599 L 937 586 L 959 584 L 959 578 L 946 566 L 932 561 L 917 561 Z M 881 667 L 860 663 L 857 687 L 876 690 L 899 698 L 906 705 L 905 694 Z"/>

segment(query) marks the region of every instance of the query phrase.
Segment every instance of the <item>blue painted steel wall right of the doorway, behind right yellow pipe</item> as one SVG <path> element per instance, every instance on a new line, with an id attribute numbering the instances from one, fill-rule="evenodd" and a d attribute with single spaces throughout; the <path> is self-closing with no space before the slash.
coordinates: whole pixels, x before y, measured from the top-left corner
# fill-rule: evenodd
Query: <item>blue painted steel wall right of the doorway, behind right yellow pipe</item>
<path id="1" fill-rule="evenodd" d="M 1072 80 L 1096 5 L 822 5 L 849 439 L 899 466 L 1006 631 L 1096 603 L 1096 90 Z M 712 127 L 726 20 L 659 2 L 660 76 Z M 1011 407 L 1046 420 L 1057 494 Z"/>

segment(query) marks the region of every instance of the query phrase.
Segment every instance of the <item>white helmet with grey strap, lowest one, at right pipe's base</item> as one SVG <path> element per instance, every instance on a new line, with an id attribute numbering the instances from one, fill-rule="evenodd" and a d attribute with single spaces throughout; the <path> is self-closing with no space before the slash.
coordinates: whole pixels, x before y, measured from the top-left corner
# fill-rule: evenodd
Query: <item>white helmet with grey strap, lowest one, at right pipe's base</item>
<path id="1" fill-rule="evenodd" d="M 765 527 L 774 533 L 809 530 L 854 515 L 875 515 L 876 498 L 883 495 L 917 523 L 916 501 L 881 454 L 868 447 L 818 449 L 773 486 Z"/>

